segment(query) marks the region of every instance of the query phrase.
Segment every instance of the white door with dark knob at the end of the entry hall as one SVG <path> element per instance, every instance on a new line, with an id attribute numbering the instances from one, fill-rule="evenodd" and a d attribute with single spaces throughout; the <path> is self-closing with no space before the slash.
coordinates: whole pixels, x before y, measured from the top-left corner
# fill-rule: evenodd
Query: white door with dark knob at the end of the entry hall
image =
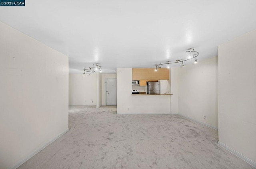
<path id="1" fill-rule="evenodd" d="M 116 79 L 106 79 L 106 105 L 116 105 Z"/>

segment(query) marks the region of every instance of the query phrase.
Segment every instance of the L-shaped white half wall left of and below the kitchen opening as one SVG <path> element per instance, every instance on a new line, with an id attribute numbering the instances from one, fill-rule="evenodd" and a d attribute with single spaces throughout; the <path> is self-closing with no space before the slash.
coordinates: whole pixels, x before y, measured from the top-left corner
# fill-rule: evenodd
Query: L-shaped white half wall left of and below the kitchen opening
<path id="1" fill-rule="evenodd" d="M 132 68 L 116 72 L 117 114 L 170 114 L 171 96 L 132 96 Z"/>

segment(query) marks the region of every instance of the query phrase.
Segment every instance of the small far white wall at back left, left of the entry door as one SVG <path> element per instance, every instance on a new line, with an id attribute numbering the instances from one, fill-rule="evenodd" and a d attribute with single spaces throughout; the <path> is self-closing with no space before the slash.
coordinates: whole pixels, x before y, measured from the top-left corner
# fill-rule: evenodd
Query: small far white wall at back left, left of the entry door
<path id="1" fill-rule="evenodd" d="M 97 74 L 70 74 L 69 75 L 69 105 L 90 106 L 96 105 Z"/>

